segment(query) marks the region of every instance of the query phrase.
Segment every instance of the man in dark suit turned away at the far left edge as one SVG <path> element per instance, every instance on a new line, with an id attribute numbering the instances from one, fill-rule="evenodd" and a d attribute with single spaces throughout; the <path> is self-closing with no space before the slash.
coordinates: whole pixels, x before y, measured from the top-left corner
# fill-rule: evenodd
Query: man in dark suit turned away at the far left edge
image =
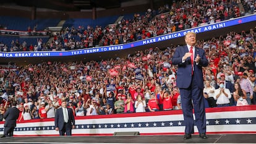
<path id="1" fill-rule="evenodd" d="M 7 102 L 6 102 L 7 103 Z M 14 135 L 14 128 L 16 121 L 19 118 L 20 111 L 16 108 L 16 102 L 12 103 L 12 108 L 7 109 L 4 113 L 4 135 L 2 137 L 12 137 Z"/>

